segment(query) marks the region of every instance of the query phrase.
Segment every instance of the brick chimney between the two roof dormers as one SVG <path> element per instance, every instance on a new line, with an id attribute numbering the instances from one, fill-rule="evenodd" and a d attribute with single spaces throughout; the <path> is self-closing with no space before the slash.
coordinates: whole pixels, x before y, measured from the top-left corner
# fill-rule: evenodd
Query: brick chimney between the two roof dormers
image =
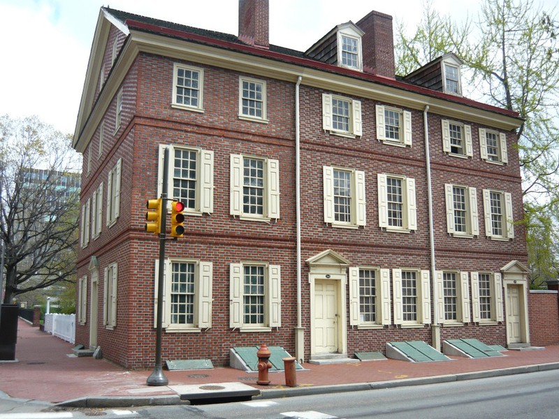
<path id="1" fill-rule="evenodd" d="M 363 71 L 395 78 L 392 16 L 373 10 L 357 26 L 365 32 L 361 39 Z"/>

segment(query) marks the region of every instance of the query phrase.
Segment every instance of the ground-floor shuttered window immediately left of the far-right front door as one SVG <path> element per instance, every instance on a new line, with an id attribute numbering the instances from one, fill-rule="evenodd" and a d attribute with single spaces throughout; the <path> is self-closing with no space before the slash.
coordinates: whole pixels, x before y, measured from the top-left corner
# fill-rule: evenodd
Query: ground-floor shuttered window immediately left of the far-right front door
<path id="1" fill-rule="evenodd" d="M 472 272 L 472 321 L 503 321 L 502 277 L 500 273 Z"/>

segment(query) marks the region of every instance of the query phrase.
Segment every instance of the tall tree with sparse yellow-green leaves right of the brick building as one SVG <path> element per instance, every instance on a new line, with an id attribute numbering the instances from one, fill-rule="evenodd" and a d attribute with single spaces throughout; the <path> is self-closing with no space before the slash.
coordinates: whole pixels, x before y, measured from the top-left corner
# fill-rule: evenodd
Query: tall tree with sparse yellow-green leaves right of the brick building
<path id="1" fill-rule="evenodd" d="M 485 0 L 477 24 L 456 24 L 426 3 L 423 21 L 407 38 L 398 28 L 402 75 L 455 52 L 470 69 L 480 100 L 518 112 L 516 133 L 532 281 L 556 276 L 559 254 L 559 31 L 555 10 L 532 0 Z M 413 67 L 413 65 L 416 65 Z M 545 261 L 545 262 L 544 262 Z M 546 267 L 542 266 L 546 264 Z"/>

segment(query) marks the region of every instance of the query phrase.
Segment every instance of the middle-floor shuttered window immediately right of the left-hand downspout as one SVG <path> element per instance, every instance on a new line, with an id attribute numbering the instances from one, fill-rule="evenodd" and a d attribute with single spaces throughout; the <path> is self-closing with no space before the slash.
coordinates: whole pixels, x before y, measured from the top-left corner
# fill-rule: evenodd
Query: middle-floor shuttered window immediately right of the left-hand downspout
<path id="1" fill-rule="evenodd" d="M 365 172 L 323 166 L 324 222 L 333 227 L 365 226 Z"/>

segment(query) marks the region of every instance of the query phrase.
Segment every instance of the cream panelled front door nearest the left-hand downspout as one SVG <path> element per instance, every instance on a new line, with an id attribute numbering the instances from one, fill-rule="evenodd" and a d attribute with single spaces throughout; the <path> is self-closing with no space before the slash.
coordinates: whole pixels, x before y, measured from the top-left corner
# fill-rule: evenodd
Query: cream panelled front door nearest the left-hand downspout
<path id="1" fill-rule="evenodd" d="M 337 281 L 314 284 L 314 352 L 338 350 Z"/>

